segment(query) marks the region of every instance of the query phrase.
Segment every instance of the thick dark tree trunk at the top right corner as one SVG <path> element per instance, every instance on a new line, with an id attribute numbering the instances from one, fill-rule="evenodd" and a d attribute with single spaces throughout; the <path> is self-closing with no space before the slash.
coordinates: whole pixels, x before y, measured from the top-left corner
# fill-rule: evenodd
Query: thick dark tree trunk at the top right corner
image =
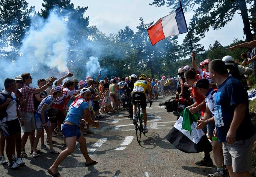
<path id="1" fill-rule="evenodd" d="M 242 21 L 244 23 L 244 34 L 246 37 L 246 41 L 250 42 L 253 40 L 253 35 L 251 34 L 251 27 L 250 27 L 246 2 L 245 0 L 238 0 L 238 3 L 239 3 L 239 8 L 241 10 Z"/>

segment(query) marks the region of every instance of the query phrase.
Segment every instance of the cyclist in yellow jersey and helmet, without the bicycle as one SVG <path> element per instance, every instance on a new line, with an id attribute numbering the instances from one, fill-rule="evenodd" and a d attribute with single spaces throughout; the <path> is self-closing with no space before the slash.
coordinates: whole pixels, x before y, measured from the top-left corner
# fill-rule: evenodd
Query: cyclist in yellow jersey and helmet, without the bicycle
<path id="1" fill-rule="evenodd" d="M 147 128 L 147 113 L 146 113 L 146 107 L 147 107 L 147 102 L 146 102 L 146 89 L 148 89 L 149 96 L 150 96 L 150 101 L 152 102 L 152 93 L 151 89 L 149 86 L 149 83 L 146 81 L 147 76 L 145 74 L 141 74 L 139 76 L 139 80 L 137 80 L 134 83 L 133 86 L 133 124 L 136 125 L 136 103 L 135 100 L 140 100 L 140 106 L 142 107 L 142 112 L 143 112 L 143 119 L 144 119 L 144 130 L 145 133 L 148 132 Z"/>

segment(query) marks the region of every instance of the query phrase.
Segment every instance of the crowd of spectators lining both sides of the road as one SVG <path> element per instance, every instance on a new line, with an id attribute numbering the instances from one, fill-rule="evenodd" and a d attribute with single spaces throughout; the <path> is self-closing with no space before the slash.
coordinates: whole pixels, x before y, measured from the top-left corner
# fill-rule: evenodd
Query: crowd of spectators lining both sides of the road
<path id="1" fill-rule="evenodd" d="M 229 49 L 255 45 L 256 41 L 253 41 Z M 188 109 L 192 114 L 199 112 L 197 129 L 207 133 L 213 144 L 217 172 L 209 174 L 210 177 L 225 176 L 224 168 L 227 168 L 230 177 L 250 176 L 255 131 L 249 118 L 246 90 L 252 86 L 249 76 L 254 74 L 256 78 L 255 54 L 256 48 L 253 48 L 250 56 L 241 54 L 242 62 L 225 56 L 222 60 L 205 59 L 197 66 L 196 54 L 193 52 L 192 67 L 186 65 L 179 68 L 177 79 L 171 76 L 146 79 L 153 99 L 175 95 L 176 98 L 183 96 L 193 102 Z M 39 139 L 41 149 L 50 148 L 49 153 L 58 155 L 60 152 L 54 150 L 53 144 L 56 141 L 52 137 L 61 136 L 63 147 L 67 147 L 67 144 L 68 147 L 60 153 L 48 171 L 50 174 L 57 174 L 60 162 L 74 151 L 74 140 L 71 142 L 69 135 L 71 125 L 78 127 L 75 135 L 86 158 L 86 165 L 97 163 L 89 158 L 86 141 L 80 138 L 80 135 L 93 134 L 90 127 L 99 126 L 98 120 L 103 118 L 102 114 L 115 113 L 122 109 L 122 95 L 131 94 L 137 76 L 111 76 L 110 79 L 105 76 L 99 80 L 99 74 L 95 79 L 87 76 L 85 80 L 80 81 L 71 79 L 73 76 L 69 73 L 58 80 L 54 76 L 39 79 L 38 88 L 30 86 L 33 79 L 30 73 L 22 73 L 14 79 L 5 79 L 5 88 L 0 92 L 1 164 L 8 164 L 9 161 L 11 169 L 24 165 L 23 158 L 28 156 L 27 152 L 33 158 L 38 158 L 40 153 L 43 153 L 38 150 Z M 146 101 L 149 101 L 147 91 L 146 95 Z M 81 110 L 80 105 L 83 108 Z M 79 118 L 84 116 L 85 119 L 76 120 L 75 114 Z M 66 121 L 72 124 L 65 123 Z M 30 149 L 25 149 L 28 138 Z M 8 161 L 4 156 L 4 148 Z M 204 152 L 204 158 L 196 162 L 196 165 L 212 164 L 209 152 Z"/>

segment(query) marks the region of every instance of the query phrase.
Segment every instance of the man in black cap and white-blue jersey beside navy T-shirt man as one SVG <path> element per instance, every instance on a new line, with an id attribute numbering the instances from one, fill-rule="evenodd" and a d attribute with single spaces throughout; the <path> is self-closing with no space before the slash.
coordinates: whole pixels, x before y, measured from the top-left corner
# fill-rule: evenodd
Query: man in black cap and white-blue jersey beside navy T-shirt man
<path id="1" fill-rule="evenodd" d="M 224 177 L 222 162 L 223 162 L 223 152 L 222 143 L 218 141 L 218 138 L 213 136 L 213 131 L 215 128 L 214 123 L 214 100 L 216 91 L 209 88 L 209 81 L 207 79 L 199 79 L 194 85 L 197 91 L 205 96 L 206 110 L 203 114 L 203 118 L 197 121 L 197 129 L 202 129 L 207 127 L 208 137 L 212 141 L 212 152 L 215 164 L 217 166 L 217 172 L 214 174 L 209 174 L 208 177 Z"/>

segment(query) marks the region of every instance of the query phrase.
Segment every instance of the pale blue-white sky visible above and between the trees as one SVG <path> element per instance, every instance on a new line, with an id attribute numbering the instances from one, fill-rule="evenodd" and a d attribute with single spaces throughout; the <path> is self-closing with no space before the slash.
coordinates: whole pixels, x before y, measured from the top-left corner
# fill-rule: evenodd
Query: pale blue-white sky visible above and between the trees
<path id="1" fill-rule="evenodd" d="M 43 0 L 27 0 L 29 6 L 35 6 L 36 12 L 41 11 Z M 150 6 L 152 0 L 71 0 L 75 7 L 86 7 L 85 16 L 89 16 L 89 25 L 95 25 L 103 33 L 117 33 L 126 26 L 133 31 L 137 31 L 139 18 L 142 17 L 145 23 L 156 22 L 158 19 L 168 15 L 170 8 Z M 193 12 L 185 12 L 187 25 Z M 224 28 L 209 32 L 199 42 L 205 49 L 210 44 L 218 40 L 223 46 L 230 45 L 233 39 L 243 39 L 243 23 L 238 13 L 235 14 L 231 22 L 228 22 Z M 183 42 L 185 34 L 179 35 L 179 44 Z M 244 37 L 245 39 L 245 37 Z"/>

